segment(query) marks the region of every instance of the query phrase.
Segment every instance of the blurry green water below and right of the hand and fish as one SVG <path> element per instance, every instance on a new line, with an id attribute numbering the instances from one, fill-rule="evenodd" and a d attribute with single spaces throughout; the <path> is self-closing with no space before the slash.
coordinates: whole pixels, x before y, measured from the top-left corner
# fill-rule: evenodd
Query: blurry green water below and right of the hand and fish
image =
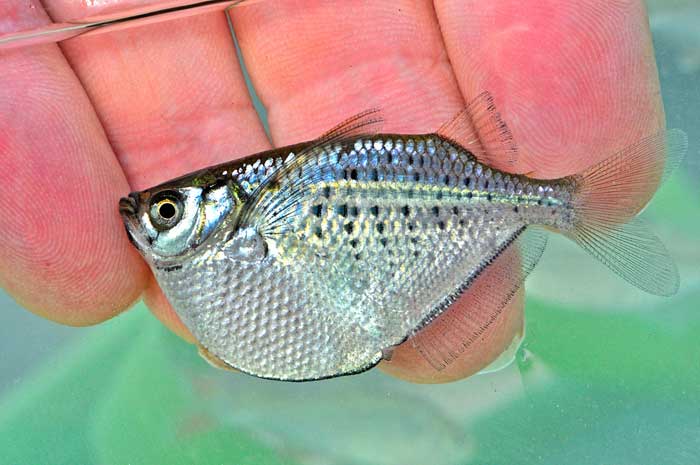
<path id="1" fill-rule="evenodd" d="M 689 164 L 644 213 L 679 263 L 677 296 L 647 296 L 552 238 L 516 361 L 439 386 L 378 371 L 231 375 L 142 305 L 74 329 L 0 296 L 0 463 L 700 463 L 700 6 L 690 11 L 652 15 L 669 123 L 691 140 Z"/>

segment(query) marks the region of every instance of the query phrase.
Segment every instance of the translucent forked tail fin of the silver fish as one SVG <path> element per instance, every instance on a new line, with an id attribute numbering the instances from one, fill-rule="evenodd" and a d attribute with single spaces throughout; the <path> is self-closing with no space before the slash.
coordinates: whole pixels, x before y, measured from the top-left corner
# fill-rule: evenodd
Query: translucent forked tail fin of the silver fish
<path id="1" fill-rule="evenodd" d="M 677 292 L 678 269 L 666 248 L 635 216 L 680 164 L 688 138 L 662 131 L 571 179 L 572 227 L 563 231 L 623 279 L 655 295 Z"/>

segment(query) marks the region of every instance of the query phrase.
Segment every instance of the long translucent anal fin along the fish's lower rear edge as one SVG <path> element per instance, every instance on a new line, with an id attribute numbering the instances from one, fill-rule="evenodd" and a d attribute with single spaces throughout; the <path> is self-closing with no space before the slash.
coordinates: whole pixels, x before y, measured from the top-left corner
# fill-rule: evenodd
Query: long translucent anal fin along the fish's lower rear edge
<path id="1" fill-rule="evenodd" d="M 499 255 L 489 260 L 473 284 L 462 294 L 466 311 L 448 307 L 411 336 L 410 341 L 425 360 L 441 371 L 479 340 L 498 320 L 535 268 L 547 244 L 546 233 L 528 227 Z"/>

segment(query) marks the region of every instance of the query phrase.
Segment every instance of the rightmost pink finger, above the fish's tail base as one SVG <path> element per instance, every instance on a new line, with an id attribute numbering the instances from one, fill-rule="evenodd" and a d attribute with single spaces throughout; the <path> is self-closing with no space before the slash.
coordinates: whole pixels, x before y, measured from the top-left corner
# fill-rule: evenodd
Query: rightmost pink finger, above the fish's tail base
<path id="1" fill-rule="evenodd" d="M 580 172 L 663 127 L 644 3 L 435 0 L 465 99 L 490 90 L 521 172 Z"/>

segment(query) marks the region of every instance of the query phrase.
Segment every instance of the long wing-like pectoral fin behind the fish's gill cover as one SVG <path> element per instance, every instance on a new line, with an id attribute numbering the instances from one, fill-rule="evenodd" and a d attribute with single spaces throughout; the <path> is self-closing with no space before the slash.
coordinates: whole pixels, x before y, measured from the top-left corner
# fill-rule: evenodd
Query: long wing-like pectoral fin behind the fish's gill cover
<path id="1" fill-rule="evenodd" d="M 263 237 L 286 231 L 303 198 L 312 186 L 333 178 L 336 151 L 324 146 L 379 132 L 384 119 L 379 109 L 369 109 L 346 119 L 294 154 L 253 191 L 241 211 L 239 225 L 254 226 Z M 285 182 L 280 182 L 282 179 Z"/>

